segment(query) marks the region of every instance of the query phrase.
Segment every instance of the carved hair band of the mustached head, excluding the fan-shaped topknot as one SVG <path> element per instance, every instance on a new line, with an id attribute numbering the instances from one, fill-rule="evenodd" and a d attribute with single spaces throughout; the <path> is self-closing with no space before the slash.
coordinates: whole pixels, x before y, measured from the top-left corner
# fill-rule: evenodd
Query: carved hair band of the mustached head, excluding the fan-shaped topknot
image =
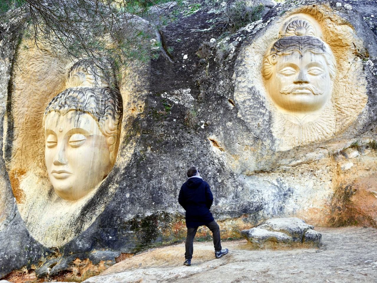
<path id="1" fill-rule="evenodd" d="M 307 51 L 312 52 L 313 54 L 323 55 L 329 68 L 330 78 L 335 78 L 336 63 L 333 52 L 320 38 L 310 35 L 283 37 L 277 40 L 271 48 L 267 49 L 264 54 L 262 67 L 264 77 L 267 80 L 271 77 L 273 66 L 277 62 L 277 56 L 289 55 L 295 51 L 299 52 L 301 55 Z"/>

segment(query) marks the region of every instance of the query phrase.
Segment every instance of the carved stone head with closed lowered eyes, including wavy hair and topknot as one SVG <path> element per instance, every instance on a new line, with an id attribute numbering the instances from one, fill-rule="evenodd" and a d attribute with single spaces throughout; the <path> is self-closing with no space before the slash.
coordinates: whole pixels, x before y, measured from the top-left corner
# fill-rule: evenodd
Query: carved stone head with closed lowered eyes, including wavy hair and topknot
<path id="1" fill-rule="evenodd" d="M 103 88 L 98 83 L 86 86 L 95 83 L 88 76 L 76 63 L 67 85 L 78 86 L 54 97 L 43 117 L 48 175 L 64 200 L 78 200 L 92 191 L 109 174 L 118 150 L 121 98 L 103 82 Z"/>

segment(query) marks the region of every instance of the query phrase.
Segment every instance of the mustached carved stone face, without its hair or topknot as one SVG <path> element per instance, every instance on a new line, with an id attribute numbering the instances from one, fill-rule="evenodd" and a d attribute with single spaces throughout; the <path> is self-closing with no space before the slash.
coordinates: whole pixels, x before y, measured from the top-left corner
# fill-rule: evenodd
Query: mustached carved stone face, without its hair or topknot
<path id="1" fill-rule="evenodd" d="M 315 112 L 331 96 L 329 69 L 322 54 L 277 55 L 268 91 L 274 103 L 289 112 Z"/>

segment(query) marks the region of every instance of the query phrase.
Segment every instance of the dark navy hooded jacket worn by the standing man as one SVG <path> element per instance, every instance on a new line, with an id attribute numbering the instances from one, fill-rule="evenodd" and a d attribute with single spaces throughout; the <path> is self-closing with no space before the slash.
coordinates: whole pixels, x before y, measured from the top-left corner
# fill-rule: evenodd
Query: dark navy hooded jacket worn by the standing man
<path id="1" fill-rule="evenodd" d="M 187 228 L 202 226 L 214 220 L 210 212 L 212 192 L 201 177 L 194 176 L 183 183 L 178 202 L 186 211 Z"/>

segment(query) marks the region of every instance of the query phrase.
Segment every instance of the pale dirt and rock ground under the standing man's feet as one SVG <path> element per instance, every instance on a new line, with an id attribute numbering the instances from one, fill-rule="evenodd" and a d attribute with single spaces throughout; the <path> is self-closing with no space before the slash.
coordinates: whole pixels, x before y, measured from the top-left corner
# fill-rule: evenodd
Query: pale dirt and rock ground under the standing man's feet
<path id="1" fill-rule="evenodd" d="M 85 283 L 128 282 L 377 282 L 377 229 L 317 228 L 320 249 L 250 250 L 246 240 L 223 243 L 215 259 L 211 243 L 194 243 L 192 266 L 182 266 L 184 244 L 152 249 L 124 260 Z"/>

